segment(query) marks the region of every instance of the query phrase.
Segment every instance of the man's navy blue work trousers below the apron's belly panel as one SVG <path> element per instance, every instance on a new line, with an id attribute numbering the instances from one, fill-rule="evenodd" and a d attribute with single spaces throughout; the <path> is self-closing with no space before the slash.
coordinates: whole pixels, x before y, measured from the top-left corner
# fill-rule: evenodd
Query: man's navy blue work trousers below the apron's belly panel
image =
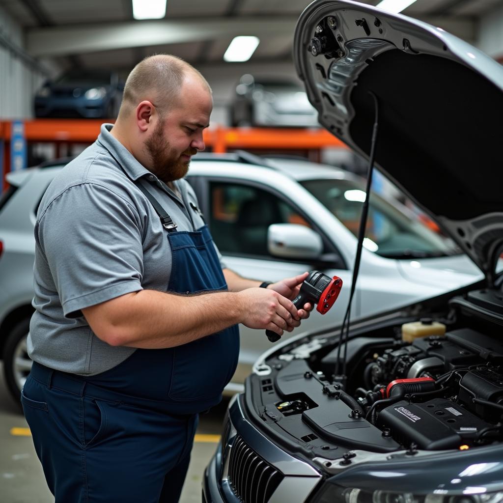
<path id="1" fill-rule="evenodd" d="M 134 400 L 93 396 L 89 388 L 35 363 L 23 389 L 24 413 L 56 503 L 178 501 L 197 414 L 139 408 Z"/>

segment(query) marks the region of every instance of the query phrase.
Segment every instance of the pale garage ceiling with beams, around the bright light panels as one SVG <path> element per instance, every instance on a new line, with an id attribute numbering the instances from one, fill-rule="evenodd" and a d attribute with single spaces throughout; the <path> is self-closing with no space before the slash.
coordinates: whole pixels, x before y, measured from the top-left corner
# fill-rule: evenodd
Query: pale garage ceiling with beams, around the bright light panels
<path id="1" fill-rule="evenodd" d="M 236 35 L 261 43 L 250 63 L 291 58 L 295 22 L 309 0 L 167 0 L 162 20 L 133 20 L 131 0 L 0 0 L 25 29 L 26 49 L 60 66 L 130 69 L 154 52 L 221 63 Z M 364 0 L 376 5 L 378 0 Z M 417 0 L 403 14 L 473 42 L 478 18 L 502 0 Z"/>

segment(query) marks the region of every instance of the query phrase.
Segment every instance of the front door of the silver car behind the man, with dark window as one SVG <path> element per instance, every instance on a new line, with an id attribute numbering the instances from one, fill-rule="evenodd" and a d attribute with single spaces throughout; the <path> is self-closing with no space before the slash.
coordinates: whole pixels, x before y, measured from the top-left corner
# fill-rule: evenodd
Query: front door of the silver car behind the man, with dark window
<path id="1" fill-rule="evenodd" d="M 271 224 L 296 223 L 317 230 L 315 222 L 308 215 L 277 191 L 241 179 L 189 177 L 189 182 L 196 190 L 213 239 L 229 269 L 245 278 L 271 282 L 319 269 L 327 275 L 341 276 L 343 281 L 349 281 L 350 272 L 346 267 L 333 269 L 328 263 L 313 264 L 310 261 L 279 259 L 269 253 L 267 234 Z M 337 250 L 326 241 L 324 251 L 337 262 Z M 342 321 L 348 293 L 349 289 L 342 294 L 340 308 L 333 309 L 333 315 L 330 312 L 326 316 L 313 313 L 293 333 L 285 332 L 283 338 L 299 333 L 299 330 L 318 329 Z M 354 312 L 356 314 L 356 310 Z M 261 330 L 243 325 L 239 328 L 241 352 L 237 372 L 244 378 L 260 354 L 271 347 L 271 343 Z"/>

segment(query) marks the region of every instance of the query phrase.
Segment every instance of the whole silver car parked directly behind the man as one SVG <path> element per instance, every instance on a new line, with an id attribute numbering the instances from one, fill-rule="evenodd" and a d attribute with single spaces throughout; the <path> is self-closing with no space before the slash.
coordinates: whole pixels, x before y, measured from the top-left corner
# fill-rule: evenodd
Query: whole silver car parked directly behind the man
<path id="1" fill-rule="evenodd" d="M 32 314 L 33 227 L 42 195 L 61 163 L 8 175 L 0 204 L 0 348 L 14 396 L 31 368 L 26 336 Z M 262 159 L 246 152 L 201 153 L 188 176 L 226 265 L 247 278 L 278 281 L 319 269 L 350 282 L 364 185 L 354 175 L 308 161 Z M 366 248 L 352 316 L 383 312 L 480 279 L 480 271 L 450 240 L 432 232 L 402 205 L 372 194 Z M 64 218 L 64 215 L 62 215 Z M 325 316 L 301 329 L 340 322 L 343 289 Z M 297 329 L 298 332 L 299 329 Z M 290 337 L 285 332 L 283 338 Z M 239 364 L 227 390 L 244 378 L 271 343 L 264 331 L 240 326 Z"/>

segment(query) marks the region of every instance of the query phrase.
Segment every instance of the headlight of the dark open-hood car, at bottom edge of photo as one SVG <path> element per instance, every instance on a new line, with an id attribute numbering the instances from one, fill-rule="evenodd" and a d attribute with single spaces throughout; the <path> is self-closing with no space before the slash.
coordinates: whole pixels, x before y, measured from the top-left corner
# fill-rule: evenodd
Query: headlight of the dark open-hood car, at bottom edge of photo
<path id="1" fill-rule="evenodd" d="M 488 492 L 486 487 L 460 487 L 456 491 L 438 489 L 429 494 L 414 494 L 370 491 L 327 483 L 314 500 L 316 503 L 501 503 L 503 491 Z"/>

